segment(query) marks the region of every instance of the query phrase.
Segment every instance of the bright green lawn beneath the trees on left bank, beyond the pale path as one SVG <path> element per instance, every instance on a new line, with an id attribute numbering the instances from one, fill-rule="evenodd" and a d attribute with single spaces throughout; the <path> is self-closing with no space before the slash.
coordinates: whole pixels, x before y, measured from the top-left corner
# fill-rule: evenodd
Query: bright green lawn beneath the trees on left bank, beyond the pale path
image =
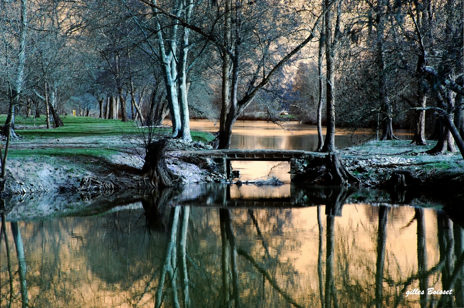
<path id="1" fill-rule="evenodd" d="M 28 126 L 28 129 L 17 129 L 16 132 L 24 138 L 64 138 L 64 137 L 98 137 L 98 136 L 122 136 L 139 135 L 141 129 L 135 122 L 122 122 L 113 119 L 95 119 L 91 117 L 62 116 L 64 126 L 56 129 L 34 128 L 34 118 L 17 116 L 16 125 Z M 0 115 L 0 123 L 5 122 L 6 115 Z M 43 125 L 45 119 L 35 119 L 36 126 Z M 158 128 L 157 133 L 168 135 L 168 128 Z M 208 132 L 191 132 L 193 141 L 209 142 L 214 136 Z"/>

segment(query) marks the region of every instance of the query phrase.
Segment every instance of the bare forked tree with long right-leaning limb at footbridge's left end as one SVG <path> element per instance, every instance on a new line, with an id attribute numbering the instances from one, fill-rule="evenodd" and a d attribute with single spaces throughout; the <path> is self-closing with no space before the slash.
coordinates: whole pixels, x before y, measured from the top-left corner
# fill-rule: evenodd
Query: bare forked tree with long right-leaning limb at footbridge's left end
<path id="1" fill-rule="evenodd" d="M 207 24 L 211 28 L 205 29 L 180 18 L 176 14 L 163 10 L 160 6 L 145 0 L 142 1 L 154 7 L 158 13 L 177 20 L 180 25 L 199 33 L 210 40 L 219 50 L 222 58 L 222 109 L 216 144 L 219 149 L 230 147 L 232 126 L 238 115 L 250 105 L 259 90 L 271 81 L 272 76 L 314 38 L 316 27 L 325 13 L 323 12 L 316 19 L 313 27 L 309 30 L 308 37 L 296 47 L 290 50 L 287 47 L 282 50 L 281 48 L 286 45 L 277 45 L 277 42 L 279 39 L 284 39 L 285 35 L 290 34 L 288 28 L 274 26 L 275 29 L 284 31 L 269 34 L 264 31 L 264 29 L 273 27 L 272 25 L 287 22 L 290 15 L 284 15 L 284 13 L 288 8 L 282 7 L 280 3 L 258 4 L 242 1 L 232 3 L 226 0 L 223 5 L 218 5 L 215 8 L 217 13 L 213 15 L 213 20 Z M 210 10 L 205 10 L 210 12 Z M 266 19 L 263 19 L 264 13 Z M 247 14 L 246 19 L 243 18 L 244 14 Z M 222 26 L 216 27 L 219 24 Z M 263 29 L 263 31 L 260 32 L 258 29 Z M 285 39 L 290 41 L 288 37 Z M 254 44 L 252 40 L 256 40 Z M 249 49 L 250 46 L 256 46 L 256 49 Z M 251 55 L 258 55 L 258 61 L 252 63 Z M 276 57 L 280 57 L 280 61 L 276 61 Z M 246 75 L 249 76 L 246 85 L 243 86 L 242 84 L 245 82 L 241 80 L 242 70 L 245 70 Z M 243 89 L 243 93 L 239 92 L 240 89 Z M 229 102 L 226 103 L 227 101 Z"/>

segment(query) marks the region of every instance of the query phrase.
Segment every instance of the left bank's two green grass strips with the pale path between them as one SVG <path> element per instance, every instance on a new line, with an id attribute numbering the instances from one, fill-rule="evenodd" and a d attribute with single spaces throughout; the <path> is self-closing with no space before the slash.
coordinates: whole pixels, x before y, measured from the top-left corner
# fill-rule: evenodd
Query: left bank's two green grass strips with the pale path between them
<path id="1" fill-rule="evenodd" d="M 6 115 L 0 115 L 0 123 L 5 119 Z M 108 157 L 142 147 L 147 131 L 146 127 L 132 121 L 73 116 L 63 116 L 62 119 L 64 126 L 46 129 L 44 118 L 17 116 L 16 132 L 22 138 L 10 144 L 9 157 Z M 169 128 L 155 129 L 160 136 L 169 136 L 170 132 Z M 195 142 L 207 143 L 214 138 L 207 132 L 192 131 L 191 135 Z"/>

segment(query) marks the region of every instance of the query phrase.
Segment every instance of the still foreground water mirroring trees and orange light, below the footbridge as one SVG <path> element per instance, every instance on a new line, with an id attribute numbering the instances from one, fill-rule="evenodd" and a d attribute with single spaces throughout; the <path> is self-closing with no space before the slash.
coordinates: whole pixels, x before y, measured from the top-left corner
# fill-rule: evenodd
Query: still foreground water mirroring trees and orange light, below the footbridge
<path id="1" fill-rule="evenodd" d="M 441 209 L 386 191 L 289 191 L 279 207 L 205 185 L 94 216 L 3 214 L 0 306 L 462 307 L 464 232 Z M 406 297 L 414 288 L 425 294 Z"/>

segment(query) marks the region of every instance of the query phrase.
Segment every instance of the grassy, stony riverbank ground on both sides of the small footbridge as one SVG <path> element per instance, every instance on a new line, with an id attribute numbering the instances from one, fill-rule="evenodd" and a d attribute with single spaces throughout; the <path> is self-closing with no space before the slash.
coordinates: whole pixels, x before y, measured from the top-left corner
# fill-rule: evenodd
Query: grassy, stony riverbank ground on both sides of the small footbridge
<path id="1" fill-rule="evenodd" d="M 11 144 L 6 194 L 142 189 L 148 185 L 140 174 L 144 163 L 143 128 L 134 123 L 64 117 L 64 127 L 47 130 L 32 126 L 30 121 L 17 119 L 17 132 L 23 139 Z M 157 134 L 161 137 L 168 132 L 160 128 Z M 192 137 L 191 143 L 170 139 L 168 168 L 182 178 L 183 185 L 226 182 L 214 155 L 201 154 L 211 149 L 207 143 L 213 135 L 192 132 Z M 433 141 L 424 146 L 401 140 L 371 141 L 341 151 L 345 165 L 360 179 L 362 187 L 435 191 L 452 187 L 460 193 L 464 180 L 462 156 L 425 155 L 423 152 L 433 145 Z M 300 159 L 296 169 L 296 173 L 304 173 L 307 162 Z M 313 184 L 320 183 L 323 171 L 318 170 L 320 174 L 314 177 Z M 398 179 L 392 182 L 392 175 L 400 175 L 402 187 L 398 187 Z M 452 195 L 456 197 L 456 193 Z"/>

